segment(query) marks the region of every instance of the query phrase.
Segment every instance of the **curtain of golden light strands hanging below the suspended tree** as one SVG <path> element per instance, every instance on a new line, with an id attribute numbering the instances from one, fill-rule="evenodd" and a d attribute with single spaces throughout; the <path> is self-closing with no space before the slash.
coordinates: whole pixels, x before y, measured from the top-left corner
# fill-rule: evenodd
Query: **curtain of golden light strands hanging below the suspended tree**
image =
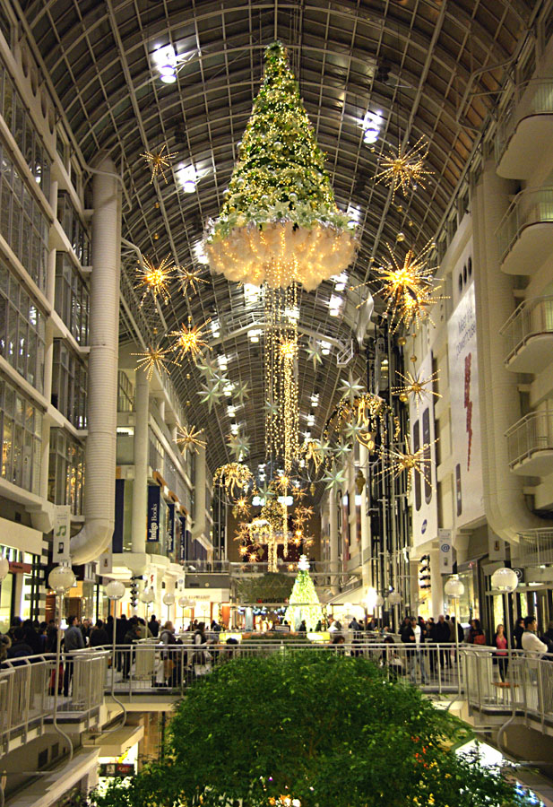
<path id="1" fill-rule="evenodd" d="M 265 286 L 265 450 L 280 457 L 289 474 L 299 453 L 298 287 Z"/>

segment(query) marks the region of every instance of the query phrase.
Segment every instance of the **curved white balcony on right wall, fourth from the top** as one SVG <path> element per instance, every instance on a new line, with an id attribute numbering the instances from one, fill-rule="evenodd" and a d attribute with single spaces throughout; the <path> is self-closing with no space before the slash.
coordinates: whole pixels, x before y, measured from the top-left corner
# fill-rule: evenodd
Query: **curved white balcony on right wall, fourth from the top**
<path id="1" fill-rule="evenodd" d="M 509 467 L 523 476 L 553 473 L 553 412 L 530 412 L 506 432 Z"/>

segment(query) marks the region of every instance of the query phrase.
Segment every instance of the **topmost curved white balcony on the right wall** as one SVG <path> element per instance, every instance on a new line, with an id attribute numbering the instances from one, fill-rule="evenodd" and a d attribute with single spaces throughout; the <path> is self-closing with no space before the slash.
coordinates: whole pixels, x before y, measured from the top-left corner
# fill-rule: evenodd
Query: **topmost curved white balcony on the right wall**
<path id="1" fill-rule="evenodd" d="M 553 78 L 520 84 L 497 122 L 497 173 L 507 179 L 530 178 L 552 141 Z"/>

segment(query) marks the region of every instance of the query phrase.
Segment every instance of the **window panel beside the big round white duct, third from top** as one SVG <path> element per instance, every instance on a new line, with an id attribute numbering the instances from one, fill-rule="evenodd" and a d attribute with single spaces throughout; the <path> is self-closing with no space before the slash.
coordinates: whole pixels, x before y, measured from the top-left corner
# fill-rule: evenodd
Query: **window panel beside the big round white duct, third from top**
<path id="1" fill-rule="evenodd" d="M 54 340 L 52 404 L 75 429 L 86 429 L 88 370 L 63 339 Z"/>

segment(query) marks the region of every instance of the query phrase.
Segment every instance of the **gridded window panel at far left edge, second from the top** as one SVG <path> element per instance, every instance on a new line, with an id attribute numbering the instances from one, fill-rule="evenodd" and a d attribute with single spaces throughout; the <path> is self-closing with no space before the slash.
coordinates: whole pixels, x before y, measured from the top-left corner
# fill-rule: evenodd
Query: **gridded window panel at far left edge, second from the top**
<path id="1" fill-rule="evenodd" d="M 23 182 L 1 141 L 0 180 L 0 234 L 40 291 L 46 291 L 48 218 Z"/>

